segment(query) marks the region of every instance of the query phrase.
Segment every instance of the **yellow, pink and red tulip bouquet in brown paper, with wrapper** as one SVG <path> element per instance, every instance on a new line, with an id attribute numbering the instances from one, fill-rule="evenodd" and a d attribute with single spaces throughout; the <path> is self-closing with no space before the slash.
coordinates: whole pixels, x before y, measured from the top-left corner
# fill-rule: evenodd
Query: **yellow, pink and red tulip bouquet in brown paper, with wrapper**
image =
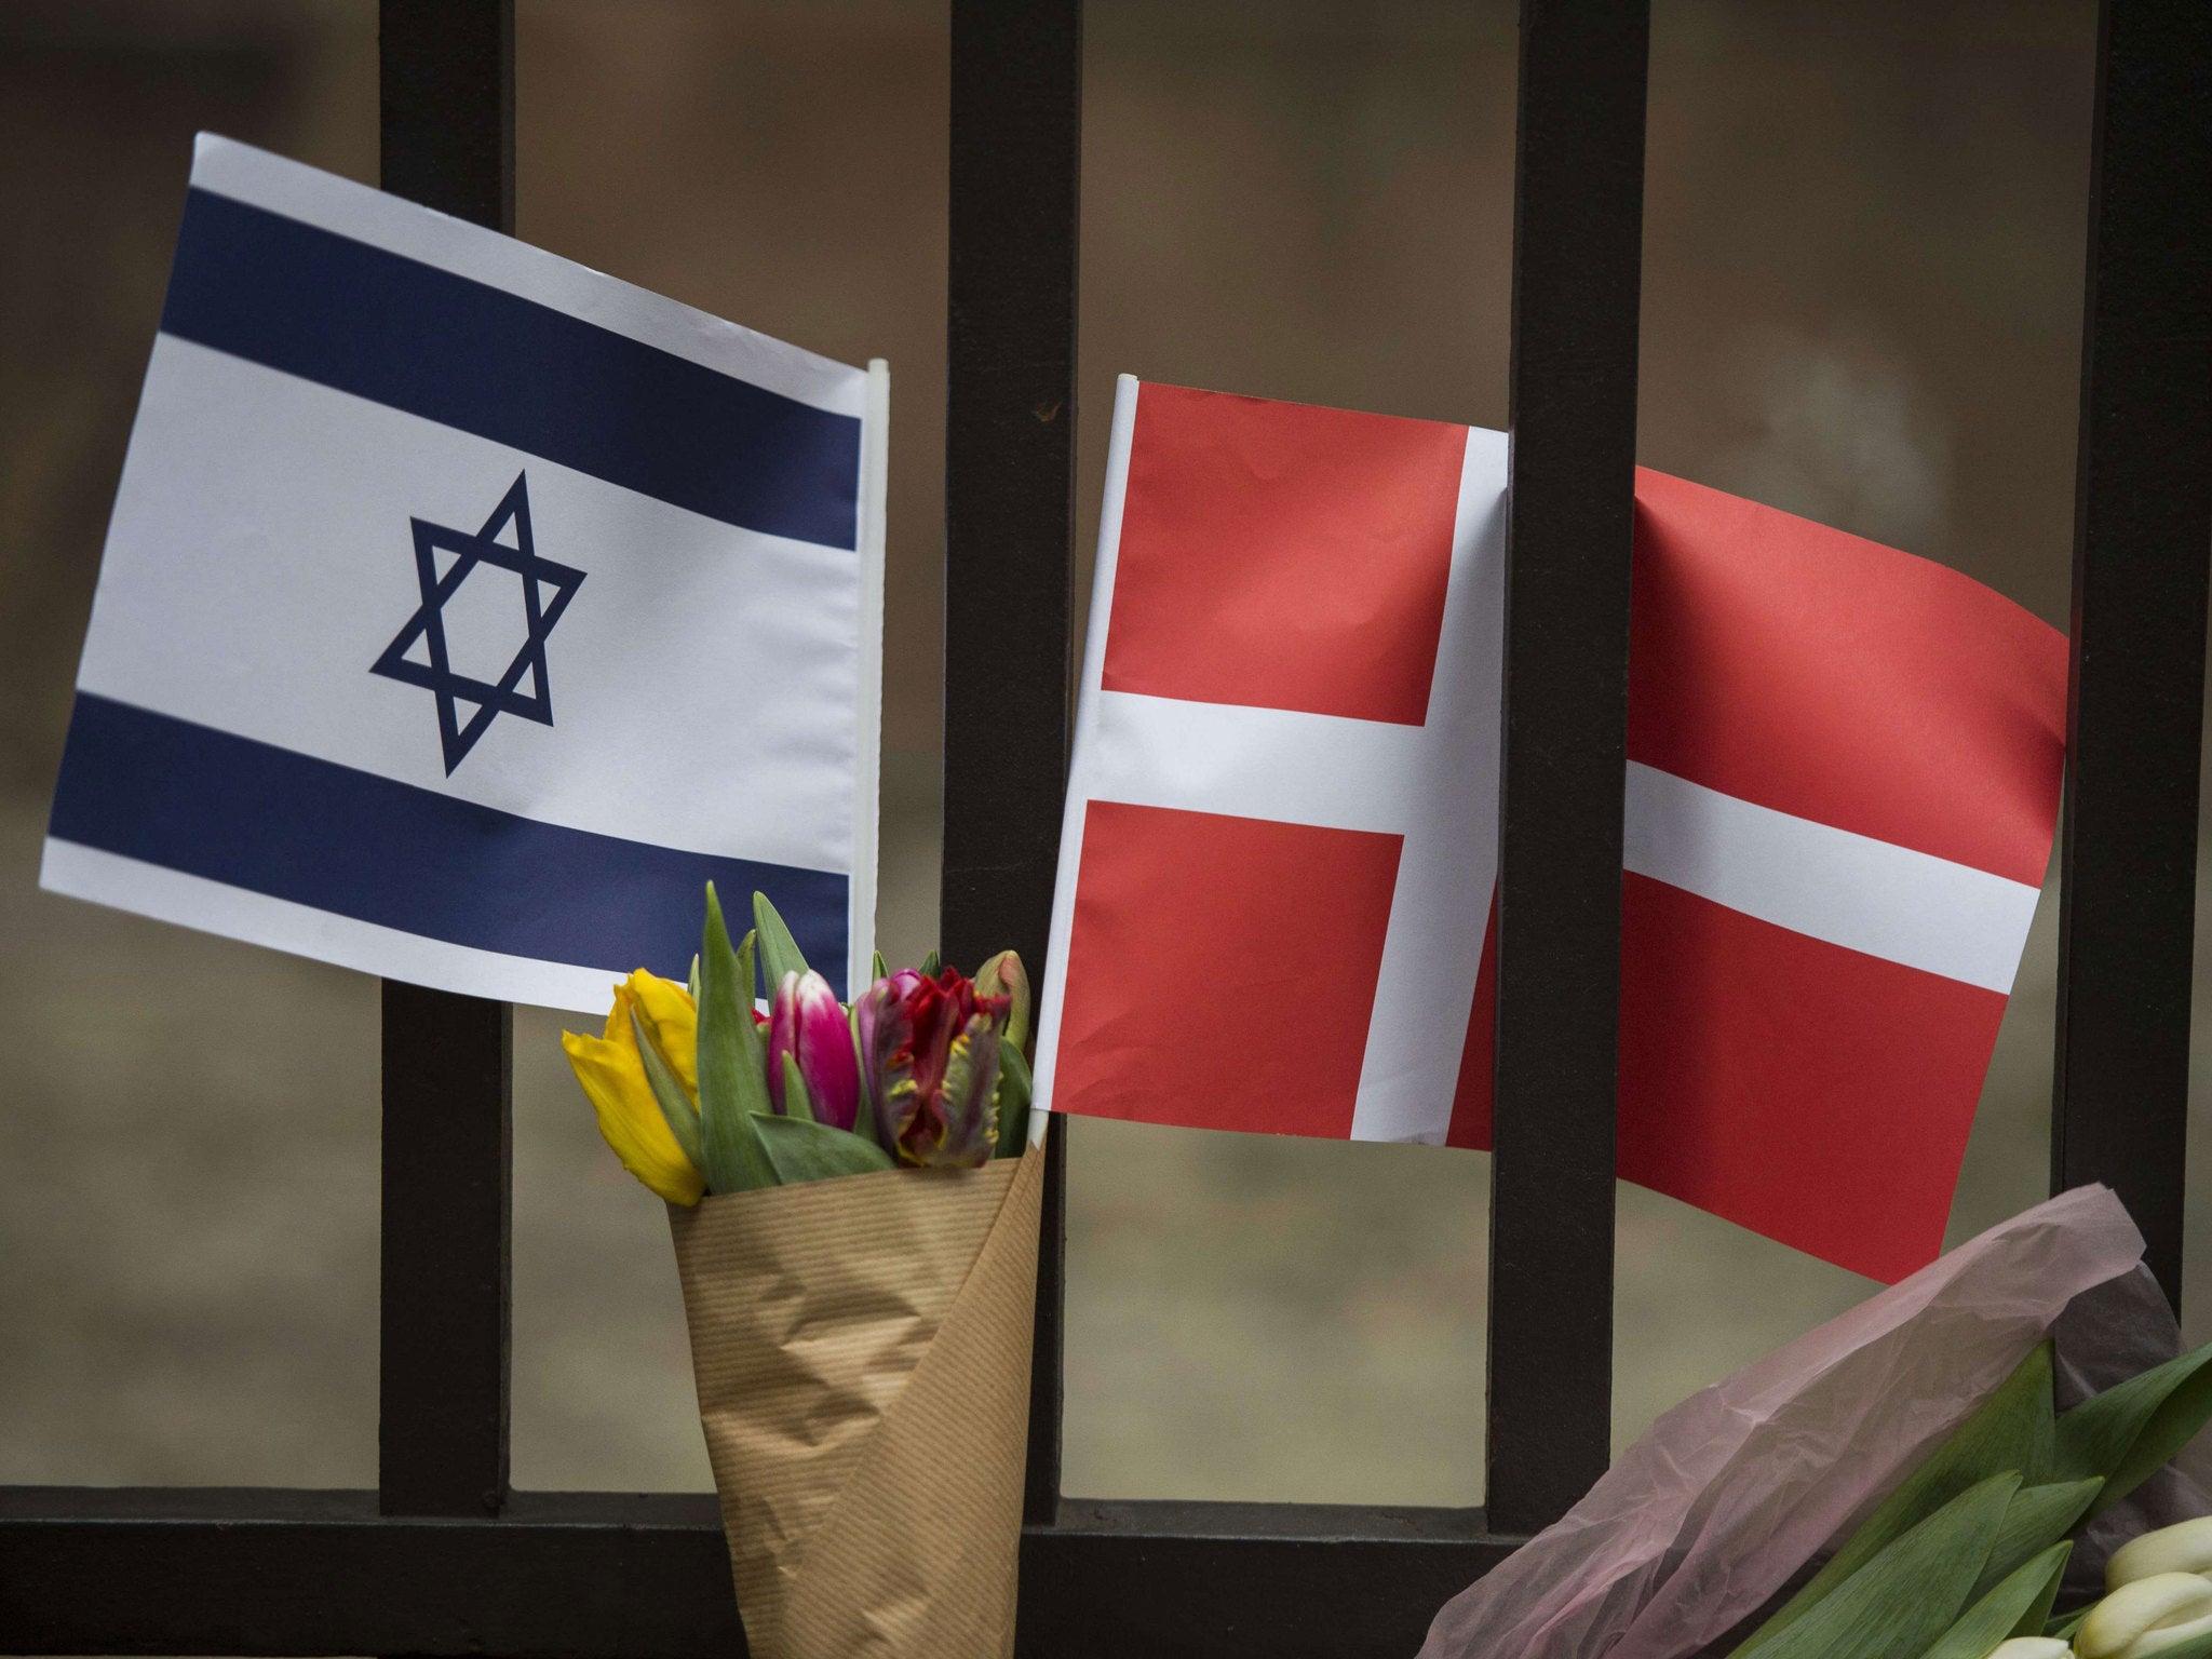
<path id="1" fill-rule="evenodd" d="M 668 1201 L 739 1610 L 763 1659 L 1013 1652 L 1042 1146 L 1029 980 L 852 1006 L 708 887 L 688 987 L 633 973 L 568 1062 Z M 754 1006 L 757 962 L 768 1013 Z"/>

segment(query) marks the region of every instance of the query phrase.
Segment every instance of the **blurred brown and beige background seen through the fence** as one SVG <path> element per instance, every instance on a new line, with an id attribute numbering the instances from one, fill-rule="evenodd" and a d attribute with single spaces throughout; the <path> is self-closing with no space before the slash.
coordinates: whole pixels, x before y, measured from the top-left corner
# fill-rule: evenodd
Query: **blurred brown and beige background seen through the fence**
<path id="1" fill-rule="evenodd" d="M 374 15 L 0 11 L 0 1482 L 374 1482 L 374 982 L 35 891 L 190 135 L 374 184 Z M 2064 626 L 2093 27 L 2093 0 L 1657 0 L 1641 458 Z M 1511 0 L 1093 0 L 1079 580 L 1117 372 L 1504 425 L 1513 53 Z M 942 4 L 520 0 L 518 58 L 522 237 L 894 365 L 880 933 L 914 958 Z M 2053 936 L 2046 894 L 1953 1237 L 2044 1194 Z M 557 1029 L 518 1013 L 515 1482 L 703 1486 L 659 1206 Z M 1071 1491 L 1480 1498 L 1482 1155 L 1073 1148 Z M 2208 1168 L 2199 1115 L 2197 1192 Z M 1871 1290 L 1637 1188 L 1619 1219 L 1621 1438 Z M 2205 1201 L 2190 1237 L 2203 1340 Z"/>

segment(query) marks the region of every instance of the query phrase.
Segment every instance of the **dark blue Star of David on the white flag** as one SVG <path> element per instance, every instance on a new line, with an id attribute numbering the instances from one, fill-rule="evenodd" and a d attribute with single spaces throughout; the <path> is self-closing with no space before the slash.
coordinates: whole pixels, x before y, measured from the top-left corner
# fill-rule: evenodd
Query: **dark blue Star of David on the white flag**
<path id="1" fill-rule="evenodd" d="M 531 540 L 531 495 L 526 473 L 515 473 L 513 487 L 491 509 L 480 531 L 456 531 L 447 524 L 414 524 L 416 582 L 422 588 L 422 604 L 407 617 L 385 655 L 372 666 L 372 675 L 398 679 L 409 686 L 427 686 L 438 697 L 438 741 L 445 748 L 445 772 L 462 763 L 476 739 L 484 734 L 500 714 L 520 714 L 540 726 L 553 723 L 553 690 L 546 681 L 546 635 L 568 608 L 568 599 L 584 584 L 584 573 L 566 564 L 538 557 Z M 515 544 L 507 546 L 500 533 L 515 526 Z M 451 553 L 453 564 L 438 573 L 438 553 Z M 478 564 L 493 564 L 522 577 L 522 613 L 529 637 L 507 664 L 498 684 L 456 672 L 445 650 L 445 602 L 453 597 L 469 571 Z M 427 661 L 409 659 L 409 650 L 425 646 Z M 529 690 L 524 690 L 529 681 Z M 471 714 L 462 719 L 460 706 L 469 703 Z"/>

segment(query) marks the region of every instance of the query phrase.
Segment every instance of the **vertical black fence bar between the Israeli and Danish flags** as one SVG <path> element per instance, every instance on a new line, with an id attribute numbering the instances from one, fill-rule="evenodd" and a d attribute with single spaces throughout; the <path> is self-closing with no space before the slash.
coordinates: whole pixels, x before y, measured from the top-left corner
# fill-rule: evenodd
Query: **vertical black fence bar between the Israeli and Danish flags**
<path id="1" fill-rule="evenodd" d="M 945 960 L 1044 969 L 1068 770 L 1082 0 L 953 0 Z M 1026 1520 L 1060 1506 L 1064 1124 L 1037 1252 Z"/>

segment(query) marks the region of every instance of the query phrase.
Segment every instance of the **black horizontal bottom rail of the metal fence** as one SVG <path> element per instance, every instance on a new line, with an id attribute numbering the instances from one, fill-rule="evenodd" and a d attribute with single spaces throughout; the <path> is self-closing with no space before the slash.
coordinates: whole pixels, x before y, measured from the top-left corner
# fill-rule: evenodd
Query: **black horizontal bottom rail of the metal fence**
<path id="1" fill-rule="evenodd" d="M 1480 1511 L 1077 1502 L 1022 1537 L 1020 1650 L 1405 1659 L 1520 1540 Z M 9 1652 L 745 1652 L 710 1493 L 513 1493 L 396 1520 L 367 1491 L 0 1491 Z"/>

